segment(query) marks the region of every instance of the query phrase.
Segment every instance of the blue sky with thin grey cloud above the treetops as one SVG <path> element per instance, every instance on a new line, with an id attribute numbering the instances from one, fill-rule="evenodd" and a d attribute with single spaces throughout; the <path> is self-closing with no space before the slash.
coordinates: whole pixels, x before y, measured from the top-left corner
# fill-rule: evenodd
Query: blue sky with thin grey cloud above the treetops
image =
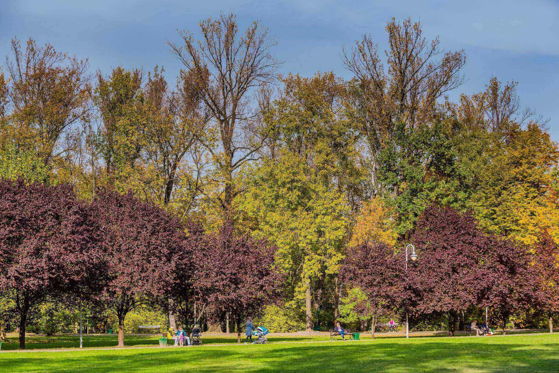
<path id="1" fill-rule="evenodd" d="M 382 50 L 391 17 L 420 20 L 427 37 L 439 35 L 444 49 L 468 55 L 467 81 L 451 98 L 480 91 L 491 75 L 514 79 L 522 104 L 551 118 L 552 138 L 559 140 L 559 0 L 0 0 L 0 54 L 6 55 L 13 36 L 31 36 L 89 58 L 93 70 L 163 65 L 174 80 L 181 65 L 165 42 L 180 41 L 177 29 L 197 31 L 202 18 L 220 11 L 234 11 L 243 28 L 262 20 L 278 41 L 283 73 L 333 70 L 346 78 L 344 44 L 367 32 Z"/>

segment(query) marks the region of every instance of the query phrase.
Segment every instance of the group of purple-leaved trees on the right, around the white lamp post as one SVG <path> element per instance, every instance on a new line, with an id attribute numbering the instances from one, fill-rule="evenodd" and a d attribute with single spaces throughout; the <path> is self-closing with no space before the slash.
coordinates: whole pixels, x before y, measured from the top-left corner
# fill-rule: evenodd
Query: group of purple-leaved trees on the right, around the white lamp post
<path id="1" fill-rule="evenodd" d="M 430 206 L 411 238 L 419 258 L 405 270 L 405 253 L 383 242 L 362 242 L 347 253 L 342 277 L 348 301 L 363 320 L 409 313 L 448 315 L 451 336 L 461 311 L 490 307 L 506 325 L 511 314 L 559 311 L 559 247 L 547 233 L 527 247 L 484 233 L 469 214 Z"/>

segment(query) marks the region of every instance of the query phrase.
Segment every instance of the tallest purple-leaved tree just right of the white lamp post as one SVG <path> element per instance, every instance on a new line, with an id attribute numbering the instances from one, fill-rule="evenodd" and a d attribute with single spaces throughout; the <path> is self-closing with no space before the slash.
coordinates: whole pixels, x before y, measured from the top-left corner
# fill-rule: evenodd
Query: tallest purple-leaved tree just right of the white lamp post
<path id="1" fill-rule="evenodd" d="M 416 314 L 448 313 L 453 336 L 458 312 L 480 304 L 485 294 L 483 262 L 492 240 L 470 214 L 430 206 L 420 216 L 411 242 L 419 259 L 406 273 L 406 303 L 415 305 Z"/>

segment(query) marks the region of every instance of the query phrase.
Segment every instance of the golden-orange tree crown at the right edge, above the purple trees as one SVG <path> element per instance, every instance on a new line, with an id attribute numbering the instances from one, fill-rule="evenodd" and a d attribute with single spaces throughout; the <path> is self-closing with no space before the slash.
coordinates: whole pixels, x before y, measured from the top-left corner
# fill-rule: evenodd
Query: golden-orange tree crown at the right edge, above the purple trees
<path id="1" fill-rule="evenodd" d="M 559 239 L 558 157 L 557 143 L 536 123 L 508 131 L 472 195 L 480 226 L 525 244 L 538 242 L 542 230 Z"/>

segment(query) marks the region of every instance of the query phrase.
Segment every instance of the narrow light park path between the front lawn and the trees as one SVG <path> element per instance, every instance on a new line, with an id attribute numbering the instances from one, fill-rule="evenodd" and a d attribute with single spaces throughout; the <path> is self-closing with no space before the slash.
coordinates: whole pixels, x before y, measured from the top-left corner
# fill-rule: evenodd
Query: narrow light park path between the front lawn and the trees
<path id="1" fill-rule="evenodd" d="M 494 336 L 491 337 L 477 337 L 477 338 L 495 338 L 495 337 L 517 337 L 517 336 L 524 336 L 526 334 L 529 334 L 530 336 L 542 336 L 542 335 L 548 335 L 549 332 L 541 332 L 541 333 L 533 333 L 533 332 L 529 332 L 529 330 L 542 330 L 542 329 L 526 329 L 527 331 L 522 331 L 522 332 L 509 332 L 508 334 L 506 334 L 506 336 L 504 336 L 503 334 L 494 334 Z M 414 332 L 414 333 L 418 333 L 418 334 L 425 334 L 425 332 Z M 216 334 L 216 335 L 220 335 L 223 336 L 224 333 L 205 333 L 205 334 Z M 272 334 L 272 333 L 269 333 Z M 283 334 L 286 337 L 287 336 L 302 336 L 302 335 L 310 335 L 310 334 L 295 334 L 295 333 L 274 333 L 274 334 Z M 377 336 L 377 334 L 382 334 L 385 337 L 391 337 L 391 336 L 405 336 L 405 333 L 375 333 L 375 337 Z M 425 337 L 425 335 L 412 335 L 413 333 L 410 333 L 410 336 L 412 337 Z M 448 332 L 446 332 L 446 334 L 448 334 Z M 235 334 L 236 335 L 236 334 Z M 314 336 L 320 336 L 321 334 L 311 334 Z M 326 335 L 328 335 L 328 333 L 326 333 Z M 435 336 L 436 334 L 429 334 L 429 336 Z M 439 336 L 439 338 L 464 338 L 464 337 L 469 337 L 467 335 L 456 335 L 454 337 L 448 337 L 447 336 Z M 475 336 L 472 336 L 475 337 Z M 357 341 L 354 341 L 353 339 L 347 339 L 346 341 L 342 341 L 341 339 L 334 339 L 334 340 L 326 340 L 326 341 L 281 341 L 281 342 L 268 342 L 268 344 L 304 344 L 304 343 L 337 343 L 337 344 L 342 344 L 342 343 L 361 343 L 361 342 L 372 342 L 371 339 L 358 339 Z M 184 346 L 186 348 L 204 348 L 204 347 L 215 347 L 215 346 L 244 346 L 244 344 L 238 344 L 238 343 L 207 343 L 207 344 L 202 344 L 202 346 Z M 248 346 L 252 346 L 252 344 L 249 344 Z M 129 346 L 129 347 L 85 347 L 85 348 L 37 348 L 35 350 L 3 350 L 0 351 L 1 353 L 26 353 L 26 352 L 79 352 L 79 351 L 105 351 L 105 350 L 143 350 L 146 348 L 180 348 L 180 347 L 174 347 L 174 346 L 168 346 L 168 347 L 158 347 L 158 346 Z"/>

